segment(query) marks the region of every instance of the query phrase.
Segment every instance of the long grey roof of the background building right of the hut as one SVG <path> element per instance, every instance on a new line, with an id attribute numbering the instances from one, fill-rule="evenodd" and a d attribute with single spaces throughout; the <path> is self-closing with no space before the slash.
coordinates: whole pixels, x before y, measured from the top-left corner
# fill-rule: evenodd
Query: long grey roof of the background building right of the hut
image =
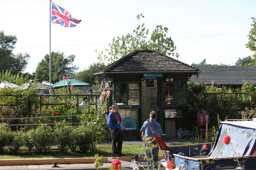
<path id="1" fill-rule="evenodd" d="M 191 83 L 214 80 L 216 84 L 242 86 L 245 82 L 256 85 L 256 66 L 196 66 L 202 72 L 190 77 Z"/>

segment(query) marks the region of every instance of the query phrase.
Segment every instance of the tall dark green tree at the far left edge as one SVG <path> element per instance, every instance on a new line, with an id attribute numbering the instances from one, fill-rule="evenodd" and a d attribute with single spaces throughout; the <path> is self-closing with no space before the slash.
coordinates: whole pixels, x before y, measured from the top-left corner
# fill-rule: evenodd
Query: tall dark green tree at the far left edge
<path id="1" fill-rule="evenodd" d="M 0 31 L 1 71 L 11 70 L 13 74 L 17 74 L 25 70 L 30 56 L 27 53 L 14 55 L 12 51 L 16 42 L 16 35 L 4 35 L 4 31 Z"/>

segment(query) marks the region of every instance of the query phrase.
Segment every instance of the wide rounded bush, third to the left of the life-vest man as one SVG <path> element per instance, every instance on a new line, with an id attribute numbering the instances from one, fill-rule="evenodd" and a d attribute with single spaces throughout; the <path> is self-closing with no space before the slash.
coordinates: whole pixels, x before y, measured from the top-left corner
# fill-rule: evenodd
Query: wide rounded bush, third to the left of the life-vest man
<path id="1" fill-rule="evenodd" d="M 52 127 L 46 124 L 41 124 L 36 129 L 29 130 L 27 133 L 31 137 L 33 150 L 37 153 L 49 152 L 55 142 Z"/>

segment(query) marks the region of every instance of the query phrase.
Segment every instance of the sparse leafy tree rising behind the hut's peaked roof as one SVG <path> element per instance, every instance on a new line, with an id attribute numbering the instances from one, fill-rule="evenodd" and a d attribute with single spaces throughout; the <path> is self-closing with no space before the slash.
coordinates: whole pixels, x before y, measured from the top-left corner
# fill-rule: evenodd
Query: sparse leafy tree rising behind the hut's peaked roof
<path id="1" fill-rule="evenodd" d="M 141 17 L 144 18 L 142 14 L 137 15 L 138 21 L 140 21 Z M 159 53 L 174 56 L 176 46 L 174 46 L 171 37 L 166 37 L 166 33 L 168 33 L 167 27 L 157 25 L 150 38 L 147 37 L 148 32 L 149 30 L 145 28 L 145 24 L 140 25 L 139 22 L 138 27 L 132 31 L 132 34 L 128 33 L 127 35 L 122 35 L 122 37 L 114 37 L 112 43 L 109 44 L 109 49 L 105 49 L 108 54 L 104 55 L 102 51 L 98 59 L 100 61 L 108 59 L 108 62 L 112 63 L 134 50 L 143 49 L 156 50 Z M 178 58 L 178 53 L 175 56 Z"/>

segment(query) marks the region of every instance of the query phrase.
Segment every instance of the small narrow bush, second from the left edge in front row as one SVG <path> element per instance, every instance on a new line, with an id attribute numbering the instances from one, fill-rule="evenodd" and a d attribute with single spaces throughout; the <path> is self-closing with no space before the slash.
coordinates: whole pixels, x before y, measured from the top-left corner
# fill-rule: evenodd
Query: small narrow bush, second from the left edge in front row
<path id="1" fill-rule="evenodd" d="M 17 154 L 20 147 L 22 146 L 23 142 L 23 131 L 18 131 L 18 133 L 16 132 L 12 132 L 12 142 L 10 144 L 10 146 L 8 146 L 8 152 L 10 154 Z"/>

